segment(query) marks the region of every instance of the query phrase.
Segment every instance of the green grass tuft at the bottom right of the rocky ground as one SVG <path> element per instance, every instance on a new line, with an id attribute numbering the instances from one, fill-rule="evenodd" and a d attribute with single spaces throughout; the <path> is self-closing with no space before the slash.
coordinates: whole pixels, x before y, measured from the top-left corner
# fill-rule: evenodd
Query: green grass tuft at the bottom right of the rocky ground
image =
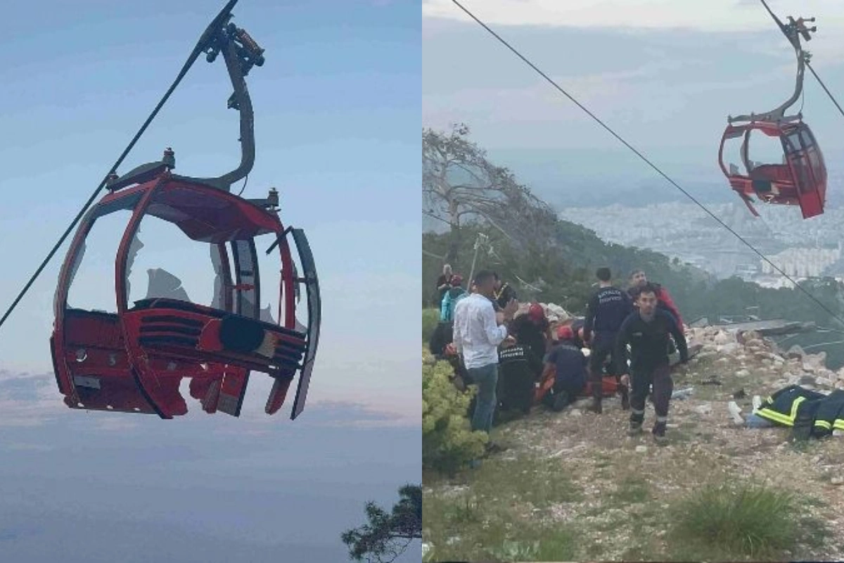
<path id="1" fill-rule="evenodd" d="M 794 515 L 803 502 L 762 485 L 706 485 L 672 509 L 673 559 L 782 559 L 799 542 L 813 540 Z M 813 540 L 814 541 L 814 540 Z"/>

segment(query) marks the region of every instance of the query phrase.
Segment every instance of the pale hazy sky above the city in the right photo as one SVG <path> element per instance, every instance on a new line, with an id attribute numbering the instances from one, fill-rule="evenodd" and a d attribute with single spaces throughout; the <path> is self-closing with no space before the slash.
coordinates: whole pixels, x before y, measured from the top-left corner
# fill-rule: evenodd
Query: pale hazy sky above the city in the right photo
<path id="1" fill-rule="evenodd" d="M 769 111 L 793 92 L 793 49 L 759 2 L 462 3 L 664 171 L 683 179 L 722 182 L 717 149 L 727 116 Z M 842 97 L 840 3 L 774 0 L 771 8 L 781 19 L 817 18 L 818 32 L 806 49 L 820 77 Z M 472 138 L 497 162 L 545 187 L 575 189 L 572 177 L 658 178 L 450 0 L 424 0 L 423 14 L 425 126 L 468 123 Z M 844 154 L 837 135 L 844 116 L 806 76 L 803 116 L 835 173 Z"/>

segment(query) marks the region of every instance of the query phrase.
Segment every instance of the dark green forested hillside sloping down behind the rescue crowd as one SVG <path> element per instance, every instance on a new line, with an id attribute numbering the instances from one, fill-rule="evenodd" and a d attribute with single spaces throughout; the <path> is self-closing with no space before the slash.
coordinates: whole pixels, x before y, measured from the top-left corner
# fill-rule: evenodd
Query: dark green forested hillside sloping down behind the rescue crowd
<path id="1" fill-rule="evenodd" d="M 627 275 L 641 268 L 648 279 L 663 284 L 679 306 L 685 322 L 699 317 L 754 314 L 763 319 L 813 321 L 819 327 L 844 331 L 802 291 L 766 289 L 733 278 L 716 281 L 698 268 L 648 250 L 606 243 L 592 230 L 557 218 L 548 203 L 519 184 L 515 176 L 486 159 L 483 149 L 468 140 L 468 127 L 451 133 L 423 132 L 423 214 L 446 228 L 422 237 L 423 305 L 433 306 L 436 278 L 443 263 L 468 277 L 474 246 L 481 237 L 475 271 L 491 268 L 516 290 L 519 300 L 553 302 L 582 314 L 597 280 L 595 269 L 609 267 L 614 281 L 626 287 Z M 436 217 L 436 219 L 432 219 Z M 656 217 L 654 220 L 658 221 Z M 844 318 L 844 285 L 835 279 L 801 282 L 837 317 Z M 809 333 L 788 345 L 834 342 L 830 333 Z M 844 365 L 844 347 L 830 344 L 827 365 Z"/>

